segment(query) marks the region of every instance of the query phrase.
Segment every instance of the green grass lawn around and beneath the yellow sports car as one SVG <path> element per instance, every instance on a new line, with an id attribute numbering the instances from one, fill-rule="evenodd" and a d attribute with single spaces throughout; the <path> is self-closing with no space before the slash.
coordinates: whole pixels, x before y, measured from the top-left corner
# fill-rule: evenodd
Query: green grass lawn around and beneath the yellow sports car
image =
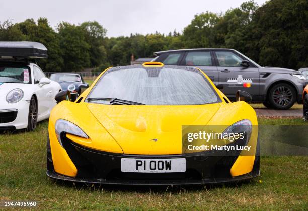
<path id="1" fill-rule="evenodd" d="M 295 119 L 259 123 L 303 124 Z M 306 124 L 306 123 L 305 123 Z M 0 201 L 37 201 L 44 209 L 305 209 L 306 156 L 261 158 L 261 176 L 250 183 L 185 188 L 129 188 L 56 183 L 46 176 L 48 122 L 35 132 L 0 134 Z"/>

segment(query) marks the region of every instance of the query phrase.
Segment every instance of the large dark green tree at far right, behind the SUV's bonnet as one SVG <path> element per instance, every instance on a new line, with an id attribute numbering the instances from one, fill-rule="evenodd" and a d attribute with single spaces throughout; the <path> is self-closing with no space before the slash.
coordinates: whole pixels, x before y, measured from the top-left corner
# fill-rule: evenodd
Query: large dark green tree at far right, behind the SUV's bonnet
<path id="1" fill-rule="evenodd" d="M 272 0 L 256 10 L 249 42 L 259 51 L 261 65 L 308 66 L 307 11 L 306 0 Z"/>

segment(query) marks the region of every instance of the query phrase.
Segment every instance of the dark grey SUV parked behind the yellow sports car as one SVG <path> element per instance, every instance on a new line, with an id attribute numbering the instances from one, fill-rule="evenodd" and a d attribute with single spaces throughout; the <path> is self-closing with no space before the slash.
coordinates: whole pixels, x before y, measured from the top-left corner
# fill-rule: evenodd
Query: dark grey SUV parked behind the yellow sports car
<path id="1" fill-rule="evenodd" d="M 298 71 L 259 64 L 233 49 L 182 49 L 155 52 L 153 61 L 168 65 L 196 66 L 221 91 L 235 100 L 238 90 L 249 92 L 253 102 L 262 102 L 268 108 L 288 109 L 297 101 L 307 84 Z M 222 86 L 223 85 L 223 86 Z"/>

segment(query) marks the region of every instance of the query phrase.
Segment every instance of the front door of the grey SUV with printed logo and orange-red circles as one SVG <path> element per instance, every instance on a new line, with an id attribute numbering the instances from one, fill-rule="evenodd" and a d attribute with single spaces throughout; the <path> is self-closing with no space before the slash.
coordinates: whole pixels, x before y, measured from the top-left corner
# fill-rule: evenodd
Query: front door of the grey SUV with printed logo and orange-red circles
<path id="1" fill-rule="evenodd" d="M 235 100 L 238 90 L 251 94 L 253 101 L 260 96 L 259 69 L 253 63 L 249 67 L 242 67 L 244 57 L 234 51 L 216 50 L 214 56 L 217 63 L 219 84 L 221 90 L 230 100 Z"/>

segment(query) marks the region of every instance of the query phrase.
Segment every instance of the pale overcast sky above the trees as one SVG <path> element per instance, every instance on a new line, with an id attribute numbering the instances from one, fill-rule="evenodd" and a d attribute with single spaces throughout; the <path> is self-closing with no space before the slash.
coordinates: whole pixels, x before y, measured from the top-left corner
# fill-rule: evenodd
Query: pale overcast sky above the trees
<path id="1" fill-rule="evenodd" d="M 225 12 L 239 7 L 243 0 L 19 0 L 0 1 L 0 22 L 13 23 L 27 18 L 46 17 L 52 27 L 60 21 L 80 24 L 97 21 L 107 29 L 107 36 L 129 36 L 155 31 L 182 32 L 194 15 L 205 11 Z M 262 5 L 265 0 L 255 0 Z"/>

